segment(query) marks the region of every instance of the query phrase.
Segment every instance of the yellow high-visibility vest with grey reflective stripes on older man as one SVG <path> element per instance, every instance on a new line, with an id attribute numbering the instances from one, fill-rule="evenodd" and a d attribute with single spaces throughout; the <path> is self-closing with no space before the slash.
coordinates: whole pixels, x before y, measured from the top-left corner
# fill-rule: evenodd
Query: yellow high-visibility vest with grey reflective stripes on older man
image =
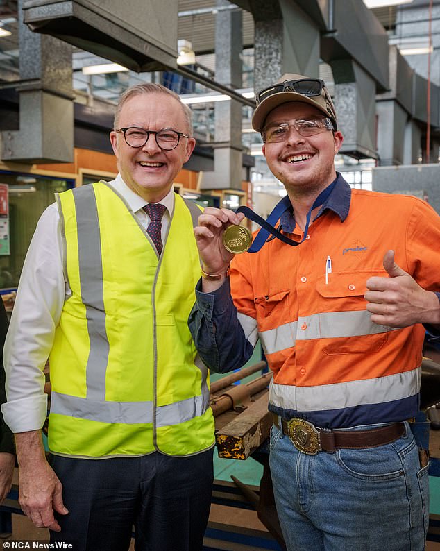
<path id="1" fill-rule="evenodd" d="M 50 355 L 49 449 L 111 457 L 212 447 L 208 370 L 187 325 L 200 277 L 198 207 L 175 196 L 158 258 L 107 183 L 56 199 L 71 296 Z"/>

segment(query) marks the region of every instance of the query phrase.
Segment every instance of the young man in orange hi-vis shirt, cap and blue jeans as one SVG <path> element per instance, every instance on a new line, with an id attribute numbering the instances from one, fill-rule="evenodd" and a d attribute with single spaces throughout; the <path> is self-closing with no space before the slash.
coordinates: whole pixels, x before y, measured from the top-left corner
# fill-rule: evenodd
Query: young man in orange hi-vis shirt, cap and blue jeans
<path id="1" fill-rule="evenodd" d="M 289 551 L 422 551 L 428 457 L 407 419 L 421 324 L 440 332 L 440 217 L 411 196 L 350 189 L 335 171 L 343 136 L 322 80 L 287 74 L 262 90 L 253 128 L 287 191 L 269 217 L 280 231 L 255 237 L 228 271 L 223 232 L 243 214 L 205 209 L 194 342 L 214 371 L 262 343 Z"/>

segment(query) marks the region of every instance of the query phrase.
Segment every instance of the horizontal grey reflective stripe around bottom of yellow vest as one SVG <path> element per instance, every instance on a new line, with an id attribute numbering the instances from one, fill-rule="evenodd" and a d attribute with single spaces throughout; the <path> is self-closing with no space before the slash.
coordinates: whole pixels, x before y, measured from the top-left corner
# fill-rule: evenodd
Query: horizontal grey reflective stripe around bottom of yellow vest
<path id="1" fill-rule="evenodd" d="M 205 397 L 195 396 L 175 404 L 160 406 L 156 409 L 156 426 L 178 425 L 201 416 L 208 409 L 204 402 Z M 101 423 L 137 425 L 153 423 L 153 402 L 105 402 L 52 392 L 51 413 Z"/>

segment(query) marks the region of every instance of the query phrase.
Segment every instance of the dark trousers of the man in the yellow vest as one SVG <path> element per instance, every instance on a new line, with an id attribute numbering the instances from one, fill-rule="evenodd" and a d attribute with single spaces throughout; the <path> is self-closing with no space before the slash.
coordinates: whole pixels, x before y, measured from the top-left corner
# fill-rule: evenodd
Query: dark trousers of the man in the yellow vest
<path id="1" fill-rule="evenodd" d="M 211 505 L 213 449 L 190 457 L 53 456 L 69 509 L 51 542 L 72 551 L 200 551 Z"/>

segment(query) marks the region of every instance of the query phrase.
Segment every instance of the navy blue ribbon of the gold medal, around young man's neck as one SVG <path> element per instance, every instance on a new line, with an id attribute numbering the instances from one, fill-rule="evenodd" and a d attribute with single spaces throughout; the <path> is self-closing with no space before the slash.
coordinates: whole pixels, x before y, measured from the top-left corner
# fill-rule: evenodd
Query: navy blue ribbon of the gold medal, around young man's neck
<path id="1" fill-rule="evenodd" d="M 291 245 L 293 247 L 301 245 L 301 243 L 303 243 L 303 241 L 307 238 L 307 231 L 309 230 L 312 211 L 316 209 L 316 207 L 320 207 L 321 205 L 323 205 L 323 203 L 325 203 L 325 201 L 327 201 L 333 188 L 335 187 L 336 182 L 337 178 L 335 178 L 335 180 L 328 187 L 326 187 L 319 194 L 319 196 L 316 197 L 312 208 L 307 213 L 303 239 L 301 239 L 301 241 L 294 241 L 293 239 L 289 239 L 289 237 L 286 237 L 274 227 L 274 224 L 276 224 L 282 214 L 284 214 L 286 210 L 291 207 L 291 202 L 288 195 L 283 197 L 281 201 L 279 201 L 275 205 L 273 211 L 271 212 L 271 214 L 269 214 L 269 217 L 267 217 L 267 220 L 264 220 L 264 218 L 260 217 L 260 215 L 256 212 L 253 212 L 253 210 L 251 210 L 249 207 L 238 207 L 236 212 L 243 212 L 246 218 L 252 220 L 253 222 L 256 222 L 259 226 L 261 226 L 260 231 L 257 233 L 255 239 L 253 240 L 253 244 L 250 248 L 248 248 L 248 253 L 257 253 L 258 251 L 260 251 L 260 248 L 262 248 L 264 243 L 266 243 L 269 235 L 273 235 L 277 239 L 280 239 L 280 241 L 282 241 L 283 243 L 287 243 L 287 245 Z"/>

